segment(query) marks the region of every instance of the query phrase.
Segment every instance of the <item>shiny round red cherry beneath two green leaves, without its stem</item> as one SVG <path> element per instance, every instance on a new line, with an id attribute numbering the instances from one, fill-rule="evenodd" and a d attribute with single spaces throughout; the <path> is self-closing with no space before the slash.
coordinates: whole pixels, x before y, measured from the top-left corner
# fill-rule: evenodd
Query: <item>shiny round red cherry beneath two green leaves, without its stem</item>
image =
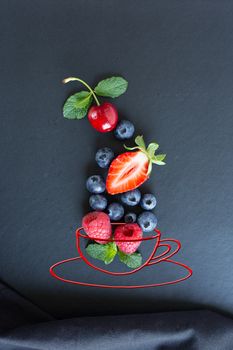
<path id="1" fill-rule="evenodd" d="M 88 112 L 88 119 L 97 131 L 109 132 L 117 125 L 118 113 L 112 103 L 105 102 L 99 106 L 92 106 Z"/>

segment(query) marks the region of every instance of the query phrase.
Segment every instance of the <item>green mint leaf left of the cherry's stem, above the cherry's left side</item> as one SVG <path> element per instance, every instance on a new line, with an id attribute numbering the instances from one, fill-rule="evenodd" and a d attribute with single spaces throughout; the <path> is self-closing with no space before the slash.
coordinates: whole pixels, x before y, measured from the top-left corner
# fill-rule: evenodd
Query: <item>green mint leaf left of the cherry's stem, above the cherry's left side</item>
<path id="1" fill-rule="evenodd" d="M 92 94 L 80 91 L 68 97 L 63 106 L 63 115 L 67 119 L 82 119 L 87 114 L 92 102 Z"/>

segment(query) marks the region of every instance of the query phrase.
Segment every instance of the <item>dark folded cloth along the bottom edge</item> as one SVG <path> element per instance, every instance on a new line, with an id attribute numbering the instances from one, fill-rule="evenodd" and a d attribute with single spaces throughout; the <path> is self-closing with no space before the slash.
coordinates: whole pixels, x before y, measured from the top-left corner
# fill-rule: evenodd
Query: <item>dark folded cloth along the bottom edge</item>
<path id="1" fill-rule="evenodd" d="M 56 320 L 0 283 L 1 350 L 231 350 L 232 322 L 207 310 Z"/>

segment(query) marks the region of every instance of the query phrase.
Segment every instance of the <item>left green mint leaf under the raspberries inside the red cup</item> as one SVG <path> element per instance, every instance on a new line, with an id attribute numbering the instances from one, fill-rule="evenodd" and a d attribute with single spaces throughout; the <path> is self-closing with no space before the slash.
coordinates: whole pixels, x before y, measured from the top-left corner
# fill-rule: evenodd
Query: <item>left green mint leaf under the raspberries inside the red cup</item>
<path id="1" fill-rule="evenodd" d="M 86 252 L 92 258 L 101 260 L 108 265 L 116 256 L 117 246 L 115 242 L 109 242 L 107 244 L 91 243 L 86 247 Z"/>

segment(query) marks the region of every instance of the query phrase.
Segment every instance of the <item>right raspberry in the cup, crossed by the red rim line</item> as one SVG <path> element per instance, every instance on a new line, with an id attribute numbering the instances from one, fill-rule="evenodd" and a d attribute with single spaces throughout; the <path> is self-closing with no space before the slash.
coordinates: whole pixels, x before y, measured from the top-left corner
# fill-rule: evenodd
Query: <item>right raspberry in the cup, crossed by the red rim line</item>
<path id="1" fill-rule="evenodd" d="M 117 226 L 114 232 L 114 240 L 116 245 L 125 254 L 133 254 L 142 241 L 130 242 L 130 240 L 142 238 L 143 232 L 138 224 L 125 224 Z M 117 240 L 125 240 L 118 242 Z"/>

